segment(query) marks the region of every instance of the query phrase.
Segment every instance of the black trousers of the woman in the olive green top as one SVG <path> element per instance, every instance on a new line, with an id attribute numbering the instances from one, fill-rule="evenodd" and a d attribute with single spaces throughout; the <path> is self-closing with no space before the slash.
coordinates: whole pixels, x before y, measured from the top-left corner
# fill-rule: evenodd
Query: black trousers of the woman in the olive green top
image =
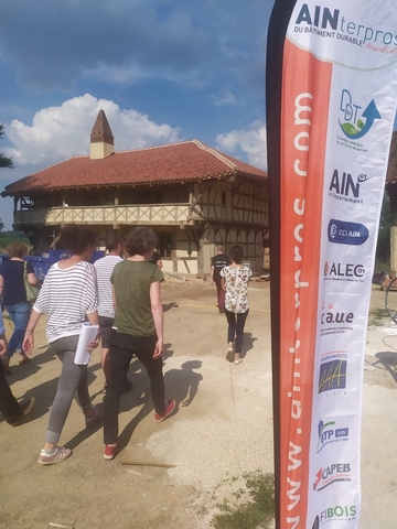
<path id="1" fill-rule="evenodd" d="M 118 439 L 118 413 L 124 384 L 132 356 L 137 355 L 149 375 L 154 410 L 163 414 L 164 379 L 162 357 L 153 358 L 157 336 L 135 337 L 112 330 L 109 341 L 110 380 L 105 398 L 104 442 L 114 444 Z"/>

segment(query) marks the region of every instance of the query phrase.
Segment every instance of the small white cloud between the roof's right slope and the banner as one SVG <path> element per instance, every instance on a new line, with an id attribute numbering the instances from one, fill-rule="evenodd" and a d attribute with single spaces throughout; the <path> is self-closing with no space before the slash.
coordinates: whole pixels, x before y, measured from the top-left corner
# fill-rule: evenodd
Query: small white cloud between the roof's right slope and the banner
<path id="1" fill-rule="evenodd" d="M 238 153 L 245 156 L 251 165 L 267 171 L 267 141 L 265 125 L 255 121 L 247 130 L 232 130 L 216 137 L 221 151 L 227 152 L 235 158 Z"/>

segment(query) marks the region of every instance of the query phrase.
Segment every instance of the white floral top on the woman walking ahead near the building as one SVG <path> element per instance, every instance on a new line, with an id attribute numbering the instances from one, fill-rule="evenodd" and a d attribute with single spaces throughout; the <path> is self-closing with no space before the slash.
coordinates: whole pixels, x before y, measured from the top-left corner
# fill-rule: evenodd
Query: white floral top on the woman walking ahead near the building
<path id="1" fill-rule="evenodd" d="M 235 313 L 248 311 L 248 281 L 251 276 L 249 267 L 225 267 L 221 270 L 226 288 L 225 309 Z"/>

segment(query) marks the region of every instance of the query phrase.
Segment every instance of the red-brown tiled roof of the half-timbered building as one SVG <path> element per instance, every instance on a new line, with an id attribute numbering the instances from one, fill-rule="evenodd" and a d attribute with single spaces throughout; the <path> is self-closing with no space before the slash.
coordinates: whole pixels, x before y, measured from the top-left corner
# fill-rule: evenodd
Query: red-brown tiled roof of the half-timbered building
<path id="1" fill-rule="evenodd" d="M 8 196 L 71 187 L 170 184 L 233 175 L 267 180 L 265 171 L 192 140 L 116 152 L 103 160 L 71 158 L 8 185 L 1 194 Z"/>

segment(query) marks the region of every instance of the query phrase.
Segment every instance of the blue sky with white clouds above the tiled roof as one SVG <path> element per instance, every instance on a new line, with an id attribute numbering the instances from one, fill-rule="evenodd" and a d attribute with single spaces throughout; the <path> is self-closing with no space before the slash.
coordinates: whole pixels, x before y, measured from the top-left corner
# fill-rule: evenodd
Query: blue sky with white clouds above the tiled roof
<path id="1" fill-rule="evenodd" d="M 266 170 L 273 0 L 0 0 L 6 185 L 75 155 L 104 109 L 116 151 L 197 139 Z M 12 229 L 12 198 L 0 219 Z"/>

